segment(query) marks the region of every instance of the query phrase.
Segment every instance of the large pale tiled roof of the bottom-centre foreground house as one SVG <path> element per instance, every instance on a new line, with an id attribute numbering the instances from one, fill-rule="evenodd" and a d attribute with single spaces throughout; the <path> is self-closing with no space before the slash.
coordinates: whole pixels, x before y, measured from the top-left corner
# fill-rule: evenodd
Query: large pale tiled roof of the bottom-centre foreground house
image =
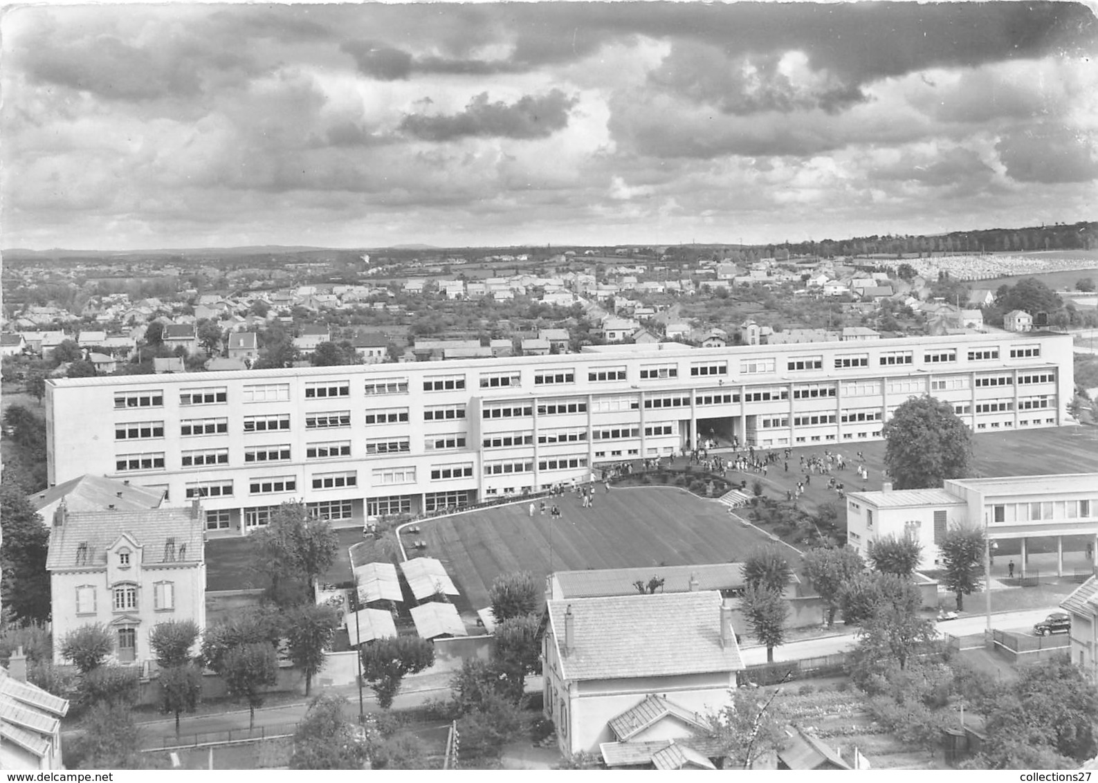
<path id="1" fill-rule="evenodd" d="M 609 680 L 733 672 L 743 668 L 736 639 L 720 641 L 716 591 L 550 601 L 547 605 L 565 680 Z M 572 608 L 572 646 L 564 615 Z"/>

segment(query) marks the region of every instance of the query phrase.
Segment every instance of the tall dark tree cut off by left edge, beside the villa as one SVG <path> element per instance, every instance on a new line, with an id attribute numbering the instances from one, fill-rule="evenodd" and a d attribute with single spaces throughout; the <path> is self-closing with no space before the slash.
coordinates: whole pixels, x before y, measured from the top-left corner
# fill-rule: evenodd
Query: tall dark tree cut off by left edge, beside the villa
<path id="1" fill-rule="evenodd" d="M 10 413 L 10 411 L 9 411 Z M 0 484 L 0 592 L 3 606 L 26 623 L 49 619 L 49 528 L 10 481 Z"/>

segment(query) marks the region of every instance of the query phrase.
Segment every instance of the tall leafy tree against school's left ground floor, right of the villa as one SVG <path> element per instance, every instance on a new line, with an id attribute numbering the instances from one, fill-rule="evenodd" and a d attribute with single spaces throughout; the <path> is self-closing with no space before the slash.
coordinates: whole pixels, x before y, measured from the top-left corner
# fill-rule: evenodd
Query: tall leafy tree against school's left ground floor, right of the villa
<path id="1" fill-rule="evenodd" d="M 256 568 L 270 577 L 270 595 L 280 606 L 312 600 L 316 579 L 335 561 L 337 546 L 332 525 L 299 501 L 280 505 L 267 527 L 251 536 Z"/>

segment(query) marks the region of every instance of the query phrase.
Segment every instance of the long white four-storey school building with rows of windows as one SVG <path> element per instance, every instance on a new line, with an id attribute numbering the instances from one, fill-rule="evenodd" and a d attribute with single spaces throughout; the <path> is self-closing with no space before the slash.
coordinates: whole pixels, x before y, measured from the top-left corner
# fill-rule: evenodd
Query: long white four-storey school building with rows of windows
<path id="1" fill-rule="evenodd" d="M 243 535 L 304 499 L 348 524 L 538 491 L 698 438 L 761 448 L 881 437 L 912 395 L 975 430 L 1062 423 L 1072 338 L 951 335 L 401 365 L 49 380 L 49 482 L 83 473 L 202 497 Z"/>

